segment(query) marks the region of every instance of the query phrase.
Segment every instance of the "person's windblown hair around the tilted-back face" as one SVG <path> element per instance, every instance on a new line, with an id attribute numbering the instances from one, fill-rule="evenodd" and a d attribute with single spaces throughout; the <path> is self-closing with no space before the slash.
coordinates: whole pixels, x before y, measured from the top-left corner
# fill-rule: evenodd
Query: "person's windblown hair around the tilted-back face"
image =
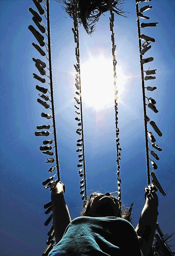
<path id="1" fill-rule="evenodd" d="M 90 216 L 89 209 L 91 207 L 91 204 L 92 204 L 94 198 L 98 195 L 99 195 L 98 192 L 94 192 L 94 193 L 90 194 L 89 199 L 84 202 L 84 204 L 80 210 L 80 216 Z M 103 195 L 103 194 L 101 194 L 101 195 Z M 119 209 L 120 209 L 119 217 L 124 218 L 131 222 L 131 213 L 132 213 L 132 208 L 133 208 L 134 202 L 132 202 L 130 207 L 126 207 L 125 205 L 122 205 L 122 202 L 118 200 L 117 196 L 113 196 L 113 195 L 110 195 L 110 196 L 113 197 L 115 200 L 117 200 L 119 203 Z"/>

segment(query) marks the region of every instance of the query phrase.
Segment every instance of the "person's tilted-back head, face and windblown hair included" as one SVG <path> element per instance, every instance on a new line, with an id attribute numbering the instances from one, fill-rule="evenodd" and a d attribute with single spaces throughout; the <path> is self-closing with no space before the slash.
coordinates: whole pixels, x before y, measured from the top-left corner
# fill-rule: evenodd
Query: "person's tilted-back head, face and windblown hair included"
<path id="1" fill-rule="evenodd" d="M 121 201 L 119 201 L 116 196 L 111 195 L 109 192 L 105 194 L 95 192 L 91 193 L 88 201 L 83 206 L 81 216 L 115 216 L 130 220 L 132 207 L 133 203 L 129 209 L 123 207 Z"/>

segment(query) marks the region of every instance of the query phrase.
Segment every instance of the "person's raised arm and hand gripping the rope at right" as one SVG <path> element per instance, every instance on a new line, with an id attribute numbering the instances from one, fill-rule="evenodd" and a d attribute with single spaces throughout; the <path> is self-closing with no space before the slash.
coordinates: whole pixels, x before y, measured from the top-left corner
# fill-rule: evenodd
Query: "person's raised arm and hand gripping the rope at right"
<path id="1" fill-rule="evenodd" d="M 139 223 L 136 227 L 141 250 L 144 256 L 147 256 L 152 248 L 153 239 L 156 231 L 156 222 L 158 217 L 158 189 L 153 184 L 145 188 L 146 203 L 142 210 Z"/>

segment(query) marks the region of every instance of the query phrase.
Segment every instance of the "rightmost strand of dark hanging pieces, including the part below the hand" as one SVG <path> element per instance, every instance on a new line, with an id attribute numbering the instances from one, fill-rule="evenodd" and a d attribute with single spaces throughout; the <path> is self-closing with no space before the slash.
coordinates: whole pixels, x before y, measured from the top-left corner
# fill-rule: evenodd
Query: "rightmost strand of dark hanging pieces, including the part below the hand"
<path id="1" fill-rule="evenodd" d="M 158 154 L 149 148 L 149 144 L 152 145 L 154 149 L 157 149 L 158 151 L 162 151 L 162 148 L 159 147 L 155 142 L 156 138 L 154 137 L 153 133 L 150 131 L 150 125 L 153 127 L 153 129 L 156 131 L 156 133 L 159 136 L 162 136 L 162 132 L 158 128 L 155 121 L 153 121 L 150 117 L 147 116 L 147 107 L 152 109 L 155 113 L 158 113 L 159 111 L 156 108 L 156 100 L 150 96 L 146 96 L 146 89 L 147 91 L 154 91 L 157 89 L 156 86 L 151 87 L 145 85 L 148 80 L 154 80 L 156 79 L 156 76 L 153 76 L 156 74 L 157 69 L 150 69 L 144 68 L 144 64 L 151 62 L 154 60 L 153 57 L 147 57 L 143 58 L 143 55 L 152 47 L 151 42 L 155 42 L 155 38 L 150 37 L 145 34 L 141 34 L 141 28 L 145 27 L 155 27 L 157 26 L 158 22 L 151 22 L 151 23 L 141 23 L 140 19 L 150 19 L 149 16 L 146 16 L 143 14 L 146 10 L 149 10 L 152 8 L 150 4 L 145 5 L 139 9 L 139 3 L 145 2 L 145 1 L 151 1 L 151 0 L 136 0 L 136 13 L 137 13 L 137 25 L 138 25 L 138 37 L 139 37 L 139 50 L 140 50 L 140 67 L 141 67 L 141 78 L 142 78 L 142 92 L 143 92 L 143 107 L 144 107 L 144 123 L 145 123 L 145 142 L 146 142 L 146 158 L 147 158 L 147 175 L 148 175 L 148 184 L 152 183 L 159 189 L 159 191 L 166 196 L 166 193 L 161 186 L 155 172 L 153 171 L 158 169 L 158 166 L 152 158 L 154 157 L 156 160 L 159 160 Z M 142 43 L 143 40 L 143 43 Z M 144 70 L 145 69 L 145 70 Z M 150 123 L 150 125 L 148 124 Z M 148 125 L 147 125 L 148 124 Z M 149 126 L 149 128 L 148 128 Z M 151 155 L 150 155 L 151 154 Z M 152 165 L 152 168 L 150 167 L 150 162 Z M 166 241 L 171 237 L 168 235 L 164 235 L 163 231 L 161 230 L 159 224 L 156 225 L 157 233 L 155 234 L 154 244 L 153 244 L 153 254 L 162 256 L 162 255 L 173 255 L 173 252 L 170 249 L 170 246 L 166 243 Z"/>

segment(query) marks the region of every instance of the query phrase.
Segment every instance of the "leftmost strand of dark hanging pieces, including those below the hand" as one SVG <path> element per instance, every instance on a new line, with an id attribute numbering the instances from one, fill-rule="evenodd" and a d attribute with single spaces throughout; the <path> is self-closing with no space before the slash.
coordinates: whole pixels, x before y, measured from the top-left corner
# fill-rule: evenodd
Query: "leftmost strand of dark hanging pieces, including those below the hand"
<path id="1" fill-rule="evenodd" d="M 47 38 L 47 42 L 46 42 L 44 36 L 37 29 L 35 29 L 32 25 L 28 26 L 29 30 L 35 36 L 36 40 L 39 42 L 41 47 L 39 45 L 35 44 L 34 42 L 32 43 L 32 45 L 37 49 L 37 51 L 41 54 L 41 56 L 44 56 L 47 59 L 48 66 L 49 66 L 49 67 L 47 67 L 47 65 L 44 61 L 42 61 L 38 58 L 37 59 L 33 58 L 33 61 L 35 62 L 35 66 L 37 68 L 37 71 L 39 71 L 39 73 L 41 75 L 45 75 L 46 78 L 49 79 L 49 81 L 47 81 L 45 78 L 33 73 L 33 77 L 35 79 L 37 79 L 38 81 L 40 81 L 42 83 L 47 83 L 50 86 L 50 91 L 49 91 L 48 88 L 42 87 L 40 85 L 36 85 L 36 89 L 42 93 L 42 94 L 38 94 L 40 96 L 40 98 L 37 99 L 37 102 L 39 102 L 46 109 L 51 110 L 51 113 L 42 112 L 41 116 L 45 117 L 47 119 L 52 118 L 53 124 L 52 125 L 49 125 L 49 124 L 38 125 L 36 128 L 38 130 L 41 130 L 41 129 L 49 129 L 50 127 L 53 127 L 53 132 L 50 132 L 48 130 L 47 131 L 35 131 L 35 135 L 36 136 L 48 136 L 51 133 L 54 134 L 54 139 L 49 138 L 47 140 L 44 140 L 43 141 L 44 145 L 40 146 L 40 148 L 39 148 L 42 151 L 42 153 L 52 156 L 50 158 L 47 158 L 46 162 L 48 162 L 48 163 L 56 162 L 56 166 L 51 166 L 49 168 L 48 172 L 52 172 L 56 168 L 57 173 L 53 174 L 52 176 L 50 176 L 49 178 L 47 178 L 46 180 L 44 180 L 42 182 L 42 184 L 44 185 L 44 188 L 52 189 L 52 187 L 55 185 L 55 183 L 58 180 L 60 180 L 60 172 L 59 172 L 59 162 L 58 162 L 54 101 L 53 101 L 53 83 L 52 83 L 52 67 L 51 67 L 51 48 L 50 48 L 49 0 L 46 0 L 46 1 L 45 0 L 44 1 L 33 0 L 33 2 L 35 4 L 39 14 L 43 15 L 47 21 L 47 25 L 45 25 L 42 21 L 42 17 L 35 10 L 33 10 L 32 8 L 29 8 L 29 11 L 33 14 L 32 20 L 34 21 L 35 25 L 40 30 L 40 32 L 43 33 L 44 36 Z M 45 51 L 43 49 L 46 50 L 47 54 L 45 53 Z M 46 73 L 45 69 L 49 70 L 49 75 Z M 46 95 L 46 93 L 49 93 L 50 98 L 48 95 Z M 43 99 L 46 100 L 47 102 L 43 101 Z M 52 143 L 54 143 L 54 144 L 51 145 Z M 55 153 L 53 151 L 50 151 L 52 149 L 55 149 Z M 57 175 L 57 179 L 53 180 L 56 175 Z M 44 205 L 44 208 L 46 209 L 45 214 L 50 213 L 52 211 L 51 202 L 46 203 Z M 44 225 L 47 226 L 50 223 L 50 221 L 52 220 L 52 217 L 53 217 L 53 215 L 51 213 L 50 216 L 45 221 Z M 48 246 L 45 249 L 45 251 L 43 252 L 43 255 L 48 255 L 49 251 L 53 248 L 53 243 L 55 242 L 53 223 L 52 223 L 47 234 L 49 236 L 48 240 L 46 241 L 46 244 Z"/>

